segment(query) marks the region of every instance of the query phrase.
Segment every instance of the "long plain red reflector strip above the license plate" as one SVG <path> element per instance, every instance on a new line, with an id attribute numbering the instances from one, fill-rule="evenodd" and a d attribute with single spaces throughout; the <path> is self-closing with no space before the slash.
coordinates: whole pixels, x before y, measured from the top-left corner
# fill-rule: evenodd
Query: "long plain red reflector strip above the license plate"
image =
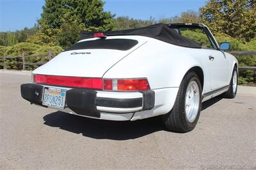
<path id="1" fill-rule="evenodd" d="M 53 86 L 66 86 L 72 88 L 102 89 L 101 78 L 67 77 L 58 75 L 34 74 L 33 82 Z"/>

